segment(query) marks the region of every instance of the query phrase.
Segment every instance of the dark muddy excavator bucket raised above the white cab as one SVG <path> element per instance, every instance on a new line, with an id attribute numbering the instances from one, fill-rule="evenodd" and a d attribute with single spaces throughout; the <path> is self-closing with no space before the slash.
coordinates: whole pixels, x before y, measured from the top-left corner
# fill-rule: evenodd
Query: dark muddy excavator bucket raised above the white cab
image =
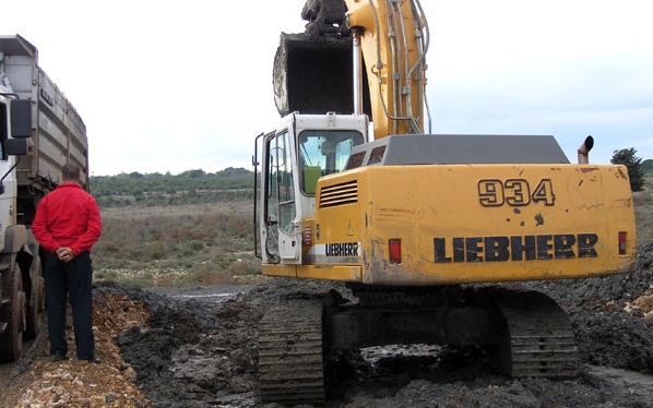
<path id="1" fill-rule="evenodd" d="M 354 111 L 352 38 L 282 33 L 274 57 L 274 101 L 281 116 Z M 370 115 L 364 76 L 364 112 Z"/>

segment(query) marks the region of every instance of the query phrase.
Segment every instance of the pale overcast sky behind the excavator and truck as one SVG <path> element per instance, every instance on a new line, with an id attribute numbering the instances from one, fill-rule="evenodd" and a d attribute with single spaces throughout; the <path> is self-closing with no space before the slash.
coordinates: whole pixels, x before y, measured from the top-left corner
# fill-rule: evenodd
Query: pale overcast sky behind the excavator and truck
<path id="1" fill-rule="evenodd" d="M 21 34 L 83 118 L 93 176 L 251 169 L 278 115 L 272 64 L 305 0 L 15 0 Z M 570 160 L 653 158 L 653 2 L 422 0 L 434 133 L 553 134 Z"/>

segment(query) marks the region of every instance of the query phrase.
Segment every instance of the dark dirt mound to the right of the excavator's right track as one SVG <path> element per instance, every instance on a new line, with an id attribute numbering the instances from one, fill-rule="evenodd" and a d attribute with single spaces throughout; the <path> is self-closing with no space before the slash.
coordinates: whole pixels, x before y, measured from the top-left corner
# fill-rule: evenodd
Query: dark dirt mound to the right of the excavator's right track
<path id="1" fill-rule="evenodd" d="M 633 274 L 527 286 L 546 292 L 569 313 L 581 361 L 651 374 L 653 322 L 632 304 L 651 297 L 652 266 L 649 243 L 640 247 Z"/>

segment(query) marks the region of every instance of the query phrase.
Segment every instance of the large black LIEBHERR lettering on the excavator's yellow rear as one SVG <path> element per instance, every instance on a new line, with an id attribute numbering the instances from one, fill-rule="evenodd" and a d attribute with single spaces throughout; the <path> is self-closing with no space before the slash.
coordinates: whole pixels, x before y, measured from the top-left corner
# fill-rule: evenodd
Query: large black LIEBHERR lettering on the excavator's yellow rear
<path id="1" fill-rule="evenodd" d="M 434 238 L 436 263 L 597 257 L 596 233 Z"/>

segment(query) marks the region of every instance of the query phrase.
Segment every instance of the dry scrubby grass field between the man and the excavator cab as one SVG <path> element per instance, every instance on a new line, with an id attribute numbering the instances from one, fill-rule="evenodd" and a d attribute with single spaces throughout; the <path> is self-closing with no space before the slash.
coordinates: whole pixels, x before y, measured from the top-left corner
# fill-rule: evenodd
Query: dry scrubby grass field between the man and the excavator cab
<path id="1" fill-rule="evenodd" d="M 247 281 L 260 275 L 251 202 L 102 208 L 96 280 L 138 287 Z"/>

